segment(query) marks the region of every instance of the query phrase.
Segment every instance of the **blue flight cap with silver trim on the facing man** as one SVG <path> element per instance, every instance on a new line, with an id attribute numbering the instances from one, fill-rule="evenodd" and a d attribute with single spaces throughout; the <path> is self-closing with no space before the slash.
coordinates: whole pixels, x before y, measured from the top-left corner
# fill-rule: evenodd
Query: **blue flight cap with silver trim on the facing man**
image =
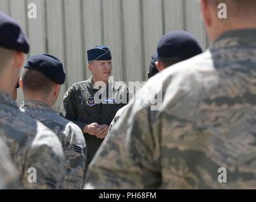
<path id="1" fill-rule="evenodd" d="M 105 45 L 98 45 L 93 49 L 87 50 L 88 61 L 110 61 L 112 55 L 110 48 Z"/>

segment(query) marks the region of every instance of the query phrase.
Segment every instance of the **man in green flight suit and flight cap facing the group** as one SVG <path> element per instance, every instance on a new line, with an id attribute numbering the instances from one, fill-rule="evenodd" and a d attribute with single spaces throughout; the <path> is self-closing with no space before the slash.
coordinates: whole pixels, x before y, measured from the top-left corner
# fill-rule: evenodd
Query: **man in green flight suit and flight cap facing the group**
<path id="1" fill-rule="evenodd" d="M 117 110 L 127 104 L 127 86 L 109 79 L 112 54 L 105 45 L 87 50 L 89 80 L 70 86 L 63 98 L 60 115 L 75 122 L 84 132 L 87 165 L 94 157 Z"/>

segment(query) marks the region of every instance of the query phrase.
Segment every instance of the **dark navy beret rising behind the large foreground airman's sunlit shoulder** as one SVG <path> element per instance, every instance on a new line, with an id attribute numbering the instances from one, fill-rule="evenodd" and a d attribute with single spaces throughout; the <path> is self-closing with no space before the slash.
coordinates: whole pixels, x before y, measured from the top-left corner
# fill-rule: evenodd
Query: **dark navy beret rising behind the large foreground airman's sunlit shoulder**
<path id="1" fill-rule="evenodd" d="M 184 31 L 165 34 L 157 46 L 160 61 L 184 61 L 202 52 L 196 38 L 191 33 Z"/>

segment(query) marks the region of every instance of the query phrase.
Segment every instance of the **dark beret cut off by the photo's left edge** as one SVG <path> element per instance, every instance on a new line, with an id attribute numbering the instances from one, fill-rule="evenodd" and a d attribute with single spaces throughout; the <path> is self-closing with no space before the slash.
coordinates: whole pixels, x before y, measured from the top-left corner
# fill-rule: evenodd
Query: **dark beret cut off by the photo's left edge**
<path id="1" fill-rule="evenodd" d="M 10 16 L 0 12 L 0 47 L 18 50 L 24 53 L 29 52 L 27 37 Z"/>

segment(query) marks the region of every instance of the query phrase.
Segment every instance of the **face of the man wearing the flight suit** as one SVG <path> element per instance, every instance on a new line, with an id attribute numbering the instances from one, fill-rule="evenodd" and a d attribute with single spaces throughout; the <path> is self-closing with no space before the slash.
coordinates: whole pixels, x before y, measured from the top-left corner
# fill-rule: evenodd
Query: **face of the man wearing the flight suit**
<path id="1" fill-rule="evenodd" d="M 93 61 L 88 68 L 93 74 L 94 82 L 107 82 L 108 76 L 111 76 L 112 73 L 112 61 Z"/>

